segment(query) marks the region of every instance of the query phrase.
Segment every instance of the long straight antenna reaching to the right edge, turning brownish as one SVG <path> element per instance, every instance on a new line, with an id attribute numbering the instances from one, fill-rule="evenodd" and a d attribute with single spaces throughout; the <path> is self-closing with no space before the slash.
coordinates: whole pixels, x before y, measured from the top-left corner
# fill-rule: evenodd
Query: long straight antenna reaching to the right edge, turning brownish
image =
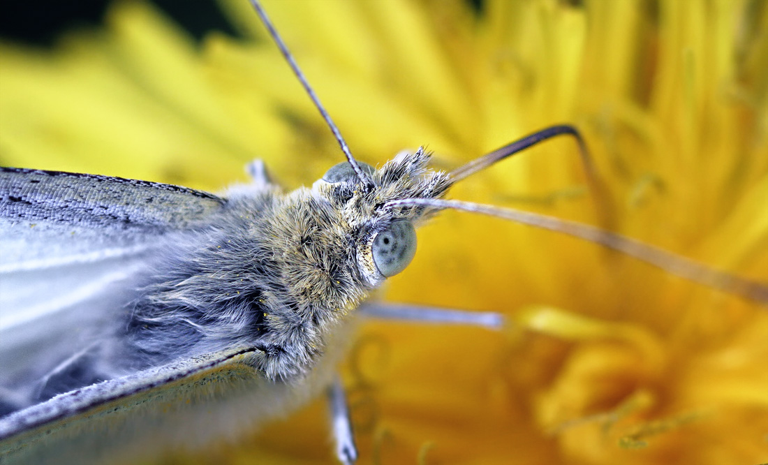
<path id="1" fill-rule="evenodd" d="M 439 210 L 450 208 L 452 210 L 486 214 L 508 221 L 515 221 L 516 223 L 528 224 L 529 226 L 534 226 L 536 228 L 568 234 L 586 241 L 594 242 L 595 244 L 601 244 L 604 247 L 637 258 L 647 264 L 651 264 L 654 267 L 659 267 L 670 274 L 684 277 L 687 280 L 703 284 L 707 287 L 713 287 L 720 291 L 745 297 L 763 304 L 768 303 L 768 284 L 750 281 L 735 274 L 718 271 L 707 265 L 693 261 L 690 258 L 673 254 L 670 251 L 665 251 L 664 249 L 654 247 L 653 245 L 644 244 L 631 237 L 626 237 L 601 228 L 595 228 L 588 224 L 561 220 L 560 218 L 553 218 L 545 214 L 520 211 L 513 208 L 500 208 L 491 205 L 475 204 L 472 202 L 432 198 L 404 198 L 388 201 L 383 206 L 384 208 L 425 207 Z"/>

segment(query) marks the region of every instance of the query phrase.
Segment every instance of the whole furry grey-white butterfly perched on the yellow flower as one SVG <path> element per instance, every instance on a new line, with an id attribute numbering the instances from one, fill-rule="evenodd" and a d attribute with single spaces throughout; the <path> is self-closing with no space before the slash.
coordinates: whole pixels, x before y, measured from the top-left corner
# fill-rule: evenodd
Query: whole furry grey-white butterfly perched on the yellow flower
<path id="1" fill-rule="evenodd" d="M 524 138 L 521 146 L 560 134 L 578 135 L 573 128 L 556 126 Z M 125 443 L 131 443 L 131 434 L 167 436 L 174 429 L 170 424 L 191 423 L 210 409 L 231 420 L 227 427 L 247 429 L 260 417 L 286 409 L 286 404 L 336 386 L 331 366 L 343 353 L 343 343 L 334 340 L 345 334 L 343 318 L 353 313 L 370 287 L 402 271 L 410 261 L 414 224 L 443 208 L 548 224 L 545 218 L 508 209 L 443 200 L 454 182 L 517 148 L 506 146 L 449 174 L 429 170 L 429 156 L 423 150 L 401 154 L 379 169 L 350 157 L 346 164 L 330 168 L 311 191 L 290 194 L 280 192 L 260 163 L 251 165 L 250 184 L 224 196 L 118 178 L 5 170 L 3 211 L 11 224 L 3 231 L 11 236 L 3 241 L 8 245 L 3 257 L 10 258 L 6 269 L 18 279 L 12 287 L 23 289 L 25 271 L 92 267 L 88 272 L 65 273 L 70 281 L 56 287 L 48 281 L 55 299 L 39 291 L 18 297 L 24 302 L 18 307 L 65 310 L 55 318 L 61 324 L 58 330 L 46 325 L 46 338 L 55 340 L 51 334 L 69 333 L 73 327 L 79 334 L 74 347 L 66 345 L 71 341 L 61 350 L 30 347 L 34 317 L 51 315 L 46 313 L 50 308 L 44 308 L 38 314 L 25 311 L 22 317 L 28 321 L 13 322 L 15 329 L 24 329 L 16 331 L 23 339 L 18 345 L 3 338 L 12 345 L 6 352 L 8 360 L 26 362 L 18 368 L 4 362 L 4 367 L 17 370 L 14 376 L 19 373 L 19 379 L 36 380 L 34 385 L 25 384 L 26 391 L 17 388 L 5 397 L 8 404 L 21 397 L 16 407 L 32 398 L 37 402 L 6 417 L 4 424 L 12 434 L 9 449 L 27 448 L 45 437 L 45 447 L 55 453 L 91 449 L 95 443 L 101 447 L 94 450 L 114 453 L 120 444 L 109 443 L 109 435 L 102 437 L 104 430 L 121 431 L 123 435 L 112 440 Z M 599 198 L 599 182 L 592 185 Z M 322 201 L 313 203 L 318 198 Z M 687 277 L 728 291 L 739 289 L 753 297 L 763 292 L 760 284 L 707 271 L 616 234 L 563 221 L 551 225 L 650 257 L 664 268 L 677 267 Z M 275 243 L 266 240 L 275 237 Z M 35 247 L 28 247 L 30 243 Z M 25 255 L 30 253 L 31 257 Z M 293 279 L 283 281 L 286 276 Z M 241 284 L 243 280 L 247 284 Z M 88 289 L 98 284 L 98 291 L 89 294 L 83 284 Z M 217 291 L 204 293 L 210 289 Z M 39 301 L 30 303 L 26 298 Z M 90 301 L 94 304 L 86 305 Z M 77 314 L 71 311 L 73 303 Z M 368 313 L 397 314 L 397 309 L 382 308 Z M 297 315 L 300 318 L 293 321 Z M 399 314 L 409 315 L 413 317 L 407 311 Z M 488 326 L 498 326 L 499 316 L 490 317 Z M 102 342 L 104 334 L 120 334 L 120 343 L 112 344 L 114 338 Z M 35 355 L 41 349 L 43 353 Z M 61 357 L 62 353 L 67 356 Z M 30 358 L 35 363 L 29 364 Z M 25 373 L 30 366 L 41 372 Z M 61 395 L 50 398 L 51 394 Z M 50 400 L 40 402 L 46 398 Z M 170 412 L 158 409 L 168 405 Z M 101 422 L 123 424 L 104 428 Z M 56 442 L 59 428 L 67 435 Z M 84 436 L 85 443 L 72 442 L 70 428 L 96 433 Z M 346 452 L 339 455 L 350 460 L 349 445 L 342 450 Z"/>

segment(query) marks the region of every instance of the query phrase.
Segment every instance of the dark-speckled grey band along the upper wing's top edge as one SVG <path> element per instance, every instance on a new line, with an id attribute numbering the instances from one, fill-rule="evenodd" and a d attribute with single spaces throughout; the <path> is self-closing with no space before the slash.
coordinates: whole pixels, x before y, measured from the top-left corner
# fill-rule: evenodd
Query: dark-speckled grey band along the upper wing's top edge
<path id="1" fill-rule="evenodd" d="M 0 217 L 85 228 L 187 229 L 226 201 L 170 184 L 24 168 L 0 168 Z"/>

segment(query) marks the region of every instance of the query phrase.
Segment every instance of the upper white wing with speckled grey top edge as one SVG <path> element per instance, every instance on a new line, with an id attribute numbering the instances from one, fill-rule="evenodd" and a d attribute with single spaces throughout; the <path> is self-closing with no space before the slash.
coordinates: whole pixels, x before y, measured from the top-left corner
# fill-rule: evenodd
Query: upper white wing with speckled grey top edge
<path id="1" fill-rule="evenodd" d="M 0 168 L 0 414 L 108 324 L 114 284 L 225 204 L 168 184 Z"/>

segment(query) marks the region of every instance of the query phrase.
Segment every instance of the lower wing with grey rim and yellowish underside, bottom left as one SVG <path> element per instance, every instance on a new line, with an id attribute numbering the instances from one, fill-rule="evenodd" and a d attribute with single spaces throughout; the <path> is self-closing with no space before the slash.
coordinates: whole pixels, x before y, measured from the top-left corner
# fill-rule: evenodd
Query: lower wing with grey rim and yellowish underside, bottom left
<path id="1" fill-rule="evenodd" d="M 0 462 L 103 463 L 180 441 L 167 433 L 173 428 L 163 431 L 170 418 L 233 408 L 242 396 L 270 389 L 253 377 L 249 359 L 255 356 L 256 350 L 247 348 L 181 360 L 60 394 L 2 417 Z M 226 402 L 210 388 L 221 384 L 234 393 Z M 134 447 L 137 442 L 142 447 Z"/>

